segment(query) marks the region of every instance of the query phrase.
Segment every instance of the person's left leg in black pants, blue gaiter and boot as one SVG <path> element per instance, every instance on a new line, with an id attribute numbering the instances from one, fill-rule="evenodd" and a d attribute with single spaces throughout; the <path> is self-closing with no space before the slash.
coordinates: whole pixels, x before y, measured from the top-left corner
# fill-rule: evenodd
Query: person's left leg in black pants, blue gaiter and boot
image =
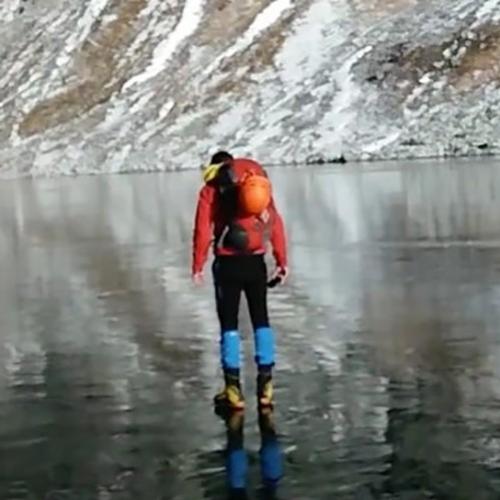
<path id="1" fill-rule="evenodd" d="M 240 388 L 240 335 L 238 312 L 241 297 L 241 283 L 232 272 L 230 258 L 214 261 L 213 275 L 217 316 L 220 325 L 220 358 L 224 372 L 225 389 L 216 400 L 228 399 L 236 407 L 243 406 Z"/>

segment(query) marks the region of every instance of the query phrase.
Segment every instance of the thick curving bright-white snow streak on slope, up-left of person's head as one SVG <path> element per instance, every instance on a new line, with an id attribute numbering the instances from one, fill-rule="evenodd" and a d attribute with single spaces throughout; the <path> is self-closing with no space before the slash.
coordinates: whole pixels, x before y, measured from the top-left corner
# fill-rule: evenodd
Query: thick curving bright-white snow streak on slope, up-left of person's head
<path id="1" fill-rule="evenodd" d="M 126 90 L 133 85 L 144 83 L 155 77 L 165 69 L 168 60 L 175 53 L 179 45 L 191 36 L 203 17 L 205 0 L 186 0 L 181 20 L 175 27 L 173 33 L 161 42 L 153 52 L 153 60 L 150 65 L 139 75 L 131 78 L 123 87 Z"/>

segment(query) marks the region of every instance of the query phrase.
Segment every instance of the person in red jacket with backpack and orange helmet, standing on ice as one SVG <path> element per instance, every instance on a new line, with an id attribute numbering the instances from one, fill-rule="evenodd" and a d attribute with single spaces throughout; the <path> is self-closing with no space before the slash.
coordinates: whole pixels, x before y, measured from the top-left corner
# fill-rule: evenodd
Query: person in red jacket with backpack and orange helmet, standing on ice
<path id="1" fill-rule="evenodd" d="M 214 402 L 233 409 L 245 406 L 240 384 L 238 330 L 240 297 L 244 292 L 254 336 L 257 399 L 259 406 L 271 406 L 275 338 L 267 307 L 265 254 L 270 243 L 276 262 L 273 279 L 284 283 L 288 265 L 283 219 L 267 173 L 255 160 L 234 158 L 226 151 L 219 151 L 203 170 L 203 178 L 193 230 L 192 278 L 198 285 L 204 282 L 203 269 L 212 244 L 215 255 L 212 276 L 224 373 L 224 388 Z M 265 208 L 257 214 L 262 206 Z"/>

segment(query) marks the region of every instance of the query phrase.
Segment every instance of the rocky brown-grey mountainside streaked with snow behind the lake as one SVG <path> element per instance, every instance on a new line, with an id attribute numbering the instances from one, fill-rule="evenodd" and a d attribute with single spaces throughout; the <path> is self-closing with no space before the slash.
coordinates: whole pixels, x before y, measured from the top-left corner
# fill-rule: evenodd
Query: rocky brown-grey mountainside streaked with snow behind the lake
<path id="1" fill-rule="evenodd" d="M 0 175 L 492 154 L 500 0 L 7 0 Z"/>

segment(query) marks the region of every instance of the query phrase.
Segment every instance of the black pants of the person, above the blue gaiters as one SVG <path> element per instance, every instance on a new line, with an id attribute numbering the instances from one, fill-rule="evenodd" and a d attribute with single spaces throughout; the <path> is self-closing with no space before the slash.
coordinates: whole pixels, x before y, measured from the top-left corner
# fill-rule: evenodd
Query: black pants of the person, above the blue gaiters
<path id="1" fill-rule="evenodd" d="M 218 256 L 212 271 L 221 332 L 238 329 L 241 292 L 245 293 L 254 330 L 269 326 L 263 255 Z"/>

